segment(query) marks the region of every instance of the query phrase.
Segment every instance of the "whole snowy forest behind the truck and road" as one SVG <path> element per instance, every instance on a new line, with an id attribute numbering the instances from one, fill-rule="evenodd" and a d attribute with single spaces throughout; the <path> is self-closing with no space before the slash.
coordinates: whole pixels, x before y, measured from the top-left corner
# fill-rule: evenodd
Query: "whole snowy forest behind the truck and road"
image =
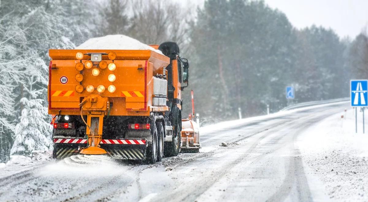
<path id="1" fill-rule="evenodd" d="M 362 29 L 367 30 L 367 29 Z M 123 34 L 146 44 L 177 42 L 190 62 L 201 124 L 276 112 L 294 102 L 348 97 L 350 79 L 367 79 L 368 37 L 296 29 L 263 1 L 1 0 L 0 162 L 52 148 L 47 115 L 48 49 Z M 185 89 L 184 116 L 190 113 Z"/>

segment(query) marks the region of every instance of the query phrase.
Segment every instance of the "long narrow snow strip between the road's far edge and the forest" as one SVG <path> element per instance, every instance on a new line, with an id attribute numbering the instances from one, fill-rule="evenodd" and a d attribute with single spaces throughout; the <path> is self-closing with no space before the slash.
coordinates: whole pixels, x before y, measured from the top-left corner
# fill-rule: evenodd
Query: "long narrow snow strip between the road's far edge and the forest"
<path id="1" fill-rule="evenodd" d="M 256 120 L 275 118 L 277 116 L 283 116 L 283 115 L 298 112 L 298 111 L 304 111 L 304 110 L 308 110 L 308 109 L 326 107 L 326 106 L 337 105 L 337 104 L 344 104 L 344 103 L 347 103 L 347 102 L 349 102 L 349 101 L 333 102 L 333 103 L 322 104 L 322 105 L 314 105 L 314 106 L 310 106 L 310 107 L 302 107 L 302 108 L 298 108 L 298 109 L 280 111 L 280 112 L 276 112 L 276 113 L 271 113 L 269 115 L 254 116 L 254 117 L 245 118 L 245 119 L 224 121 L 224 122 L 220 122 L 220 123 L 215 123 L 215 124 L 203 126 L 199 129 L 199 131 L 202 134 L 203 133 L 210 133 L 210 132 L 213 132 L 213 131 L 231 128 L 233 126 L 237 126 L 237 125 L 240 125 L 240 124 L 244 124 L 244 123 L 248 123 L 248 122 L 252 122 L 252 121 L 256 121 Z"/>

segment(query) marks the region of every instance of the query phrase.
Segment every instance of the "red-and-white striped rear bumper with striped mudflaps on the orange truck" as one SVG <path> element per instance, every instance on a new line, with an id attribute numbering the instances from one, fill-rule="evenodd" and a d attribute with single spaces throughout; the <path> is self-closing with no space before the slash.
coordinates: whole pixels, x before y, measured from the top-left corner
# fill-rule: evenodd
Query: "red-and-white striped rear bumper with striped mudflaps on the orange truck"
<path id="1" fill-rule="evenodd" d="M 54 138 L 54 158 L 62 159 L 79 154 L 78 147 L 87 147 L 87 140 L 80 138 Z M 103 139 L 100 147 L 113 159 L 145 160 L 147 140 L 145 139 Z"/>

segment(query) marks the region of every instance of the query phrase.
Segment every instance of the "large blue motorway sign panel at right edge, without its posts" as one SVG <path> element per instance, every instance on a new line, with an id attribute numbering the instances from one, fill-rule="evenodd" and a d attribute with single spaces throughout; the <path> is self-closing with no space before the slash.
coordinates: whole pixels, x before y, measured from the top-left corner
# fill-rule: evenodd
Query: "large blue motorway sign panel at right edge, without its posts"
<path id="1" fill-rule="evenodd" d="M 350 102 L 351 107 L 368 106 L 368 80 L 350 81 Z"/>

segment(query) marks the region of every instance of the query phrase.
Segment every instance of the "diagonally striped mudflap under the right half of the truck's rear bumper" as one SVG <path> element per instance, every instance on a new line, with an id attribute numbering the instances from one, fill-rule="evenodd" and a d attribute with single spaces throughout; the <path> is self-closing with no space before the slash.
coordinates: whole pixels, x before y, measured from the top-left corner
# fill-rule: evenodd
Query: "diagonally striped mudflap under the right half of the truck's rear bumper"
<path id="1" fill-rule="evenodd" d="M 107 154 L 113 159 L 130 159 L 130 160 L 144 160 L 145 154 L 136 148 L 126 149 L 105 149 Z"/>

